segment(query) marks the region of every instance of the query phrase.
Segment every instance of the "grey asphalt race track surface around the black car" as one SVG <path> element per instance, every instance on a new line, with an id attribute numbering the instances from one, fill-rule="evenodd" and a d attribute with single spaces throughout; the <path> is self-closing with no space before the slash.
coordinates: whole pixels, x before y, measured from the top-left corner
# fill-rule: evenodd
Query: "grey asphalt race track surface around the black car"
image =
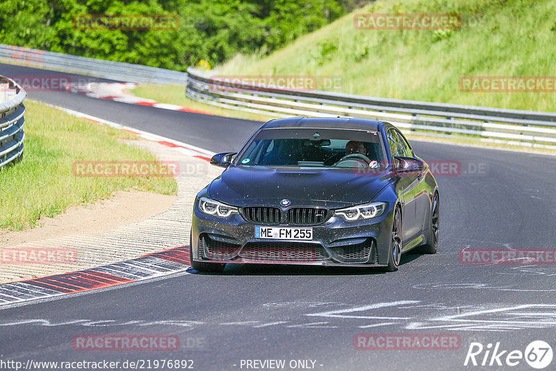
<path id="1" fill-rule="evenodd" d="M 0 74 L 37 73 L 0 65 Z M 38 70 L 40 71 L 40 70 Z M 92 99 L 66 92 L 29 97 L 165 135 L 211 151 L 239 149 L 257 122 Z M 48 302 L 0 307 L 0 360 L 191 359 L 195 370 L 253 370 L 241 360 L 313 360 L 315 370 L 533 370 L 505 357 L 533 340 L 553 348 L 555 265 L 469 265 L 461 249 L 554 249 L 556 159 L 513 151 L 412 142 L 425 160 L 457 160 L 437 176 L 441 238 L 435 255 L 407 254 L 398 272 L 324 267 L 230 266 L 188 270 Z M 482 164 L 482 165 L 480 165 Z M 482 174 L 469 170 L 482 167 Z M 466 172 L 467 174 L 464 174 Z M 456 350 L 358 350 L 360 333 L 448 333 Z M 72 338 L 173 334 L 174 352 L 83 352 Z M 464 367 L 472 342 L 501 358 Z M 485 352 L 477 355 L 483 360 Z M 311 363 L 309 362 L 309 365 Z M 554 370 L 556 360 L 546 368 Z M 161 368 L 158 368 L 159 370 Z M 168 369 L 168 368 L 165 368 Z"/>

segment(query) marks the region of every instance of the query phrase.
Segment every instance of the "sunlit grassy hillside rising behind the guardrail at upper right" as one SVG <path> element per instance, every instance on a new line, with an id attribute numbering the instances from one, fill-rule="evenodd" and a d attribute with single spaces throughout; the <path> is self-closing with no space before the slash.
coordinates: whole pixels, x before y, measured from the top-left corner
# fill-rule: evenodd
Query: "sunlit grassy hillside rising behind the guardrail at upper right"
<path id="1" fill-rule="evenodd" d="M 356 13 L 450 13 L 463 22 L 452 31 L 361 30 Z M 379 0 L 265 58 L 238 55 L 213 74 L 341 76 L 350 94 L 553 111 L 555 93 L 461 92 L 458 83 L 555 76 L 554 14 L 552 0 Z"/>

